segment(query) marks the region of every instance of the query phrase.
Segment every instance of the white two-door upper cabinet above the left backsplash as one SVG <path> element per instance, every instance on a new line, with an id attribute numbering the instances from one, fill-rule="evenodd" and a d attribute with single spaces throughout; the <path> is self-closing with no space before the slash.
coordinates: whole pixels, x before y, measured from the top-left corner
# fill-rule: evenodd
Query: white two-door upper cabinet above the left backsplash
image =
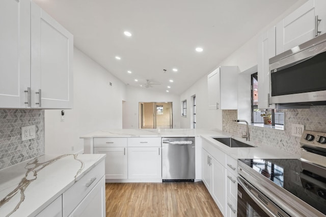
<path id="1" fill-rule="evenodd" d="M 72 108 L 73 36 L 29 0 L 0 1 L 0 108 Z"/>

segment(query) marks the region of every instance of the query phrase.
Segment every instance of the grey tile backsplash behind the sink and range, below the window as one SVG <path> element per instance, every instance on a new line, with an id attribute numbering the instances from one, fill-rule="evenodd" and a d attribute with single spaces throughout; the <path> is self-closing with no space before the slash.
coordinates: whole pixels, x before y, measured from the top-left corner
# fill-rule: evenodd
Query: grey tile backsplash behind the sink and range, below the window
<path id="1" fill-rule="evenodd" d="M 240 137 L 246 132 L 246 125 L 240 125 L 237 110 L 223 110 L 223 131 Z M 291 125 L 304 125 L 306 130 L 326 132 L 326 106 L 312 106 L 310 109 L 286 109 L 285 130 L 249 127 L 250 140 L 259 146 L 273 146 L 291 153 L 300 154 L 300 137 L 291 135 Z"/>

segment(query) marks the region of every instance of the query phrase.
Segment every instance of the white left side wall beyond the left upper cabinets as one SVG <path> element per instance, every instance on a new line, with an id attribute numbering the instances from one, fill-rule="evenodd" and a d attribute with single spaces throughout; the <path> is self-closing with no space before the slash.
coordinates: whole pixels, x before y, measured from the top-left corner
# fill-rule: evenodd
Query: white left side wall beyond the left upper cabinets
<path id="1" fill-rule="evenodd" d="M 61 109 L 45 110 L 45 153 L 83 151 L 79 136 L 97 130 L 121 129 L 125 86 L 74 47 L 73 109 L 64 110 L 64 122 Z"/>

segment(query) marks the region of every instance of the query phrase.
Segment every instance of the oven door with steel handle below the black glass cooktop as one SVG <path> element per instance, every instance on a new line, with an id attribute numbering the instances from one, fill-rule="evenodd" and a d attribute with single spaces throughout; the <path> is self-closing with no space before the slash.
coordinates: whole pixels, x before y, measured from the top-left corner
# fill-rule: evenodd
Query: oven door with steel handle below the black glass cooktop
<path id="1" fill-rule="evenodd" d="M 290 217 L 274 202 L 256 189 L 247 180 L 238 177 L 238 216 L 283 216 Z"/>

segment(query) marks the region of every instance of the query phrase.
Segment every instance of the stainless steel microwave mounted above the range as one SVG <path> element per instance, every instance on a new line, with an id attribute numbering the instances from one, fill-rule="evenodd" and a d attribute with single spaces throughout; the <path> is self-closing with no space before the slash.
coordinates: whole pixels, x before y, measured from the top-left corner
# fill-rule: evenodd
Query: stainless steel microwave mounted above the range
<path id="1" fill-rule="evenodd" d="M 269 102 L 326 105 L 326 34 L 269 59 Z"/>

